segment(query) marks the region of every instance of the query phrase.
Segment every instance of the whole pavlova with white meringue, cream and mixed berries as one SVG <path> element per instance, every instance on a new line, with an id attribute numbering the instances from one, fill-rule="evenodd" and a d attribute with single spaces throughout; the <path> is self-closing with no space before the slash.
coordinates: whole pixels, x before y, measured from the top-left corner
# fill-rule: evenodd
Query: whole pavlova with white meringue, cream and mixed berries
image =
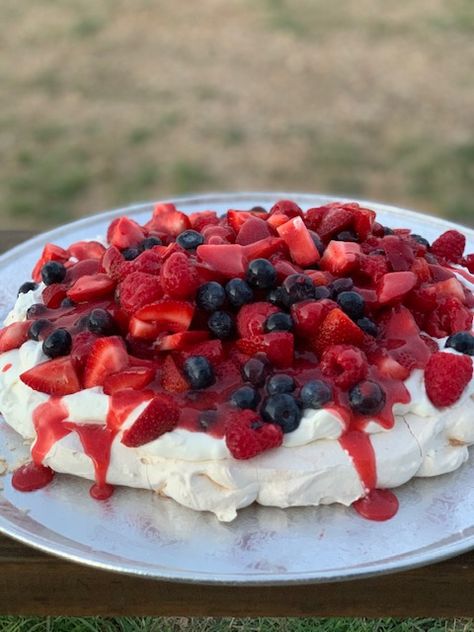
<path id="1" fill-rule="evenodd" d="M 190 216 L 160 203 L 47 244 L 0 331 L 14 473 L 151 489 L 220 520 L 353 504 L 458 468 L 474 443 L 474 255 L 356 203 Z"/>

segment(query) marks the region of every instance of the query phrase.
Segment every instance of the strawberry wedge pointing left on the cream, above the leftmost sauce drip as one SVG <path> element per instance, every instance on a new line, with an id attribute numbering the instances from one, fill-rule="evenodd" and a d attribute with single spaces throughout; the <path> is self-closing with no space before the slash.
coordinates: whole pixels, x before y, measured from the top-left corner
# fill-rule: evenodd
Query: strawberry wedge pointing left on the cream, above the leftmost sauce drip
<path id="1" fill-rule="evenodd" d="M 81 390 L 79 377 L 68 356 L 37 364 L 20 375 L 20 380 L 34 391 L 48 395 L 70 395 Z"/>

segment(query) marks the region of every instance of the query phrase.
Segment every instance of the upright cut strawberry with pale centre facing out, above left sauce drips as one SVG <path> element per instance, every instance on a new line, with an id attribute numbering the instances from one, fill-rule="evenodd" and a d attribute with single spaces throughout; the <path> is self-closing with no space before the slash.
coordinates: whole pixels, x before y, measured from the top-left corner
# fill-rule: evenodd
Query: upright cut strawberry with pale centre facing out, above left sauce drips
<path id="1" fill-rule="evenodd" d="M 98 338 L 92 346 L 84 369 L 84 386 L 102 386 L 111 373 L 122 371 L 129 364 L 125 344 L 119 336 Z"/>

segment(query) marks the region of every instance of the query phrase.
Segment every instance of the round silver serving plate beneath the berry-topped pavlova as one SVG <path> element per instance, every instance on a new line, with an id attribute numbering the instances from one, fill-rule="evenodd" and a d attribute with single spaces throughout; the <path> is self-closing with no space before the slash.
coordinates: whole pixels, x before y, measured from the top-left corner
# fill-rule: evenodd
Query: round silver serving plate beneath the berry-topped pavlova
<path id="1" fill-rule="evenodd" d="M 191 213 L 214 209 L 269 208 L 282 198 L 304 209 L 334 198 L 298 193 L 240 193 L 174 200 Z M 373 202 L 388 226 L 409 227 L 433 240 L 456 227 Z M 45 242 L 71 242 L 104 235 L 116 216 L 145 221 L 153 204 L 88 217 L 44 233 L 0 257 L 0 315 L 29 278 Z M 459 228 L 459 227 L 458 227 Z M 474 231 L 462 229 L 474 250 Z M 231 523 L 219 523 L 147 491 L 119 488 L 94 501 L 90 483 L 58 475 L 40 491 L 19 493 L 11 471 L 28 456 L 22 439 L 0 421 L 0 531 L 63 558 L 104 570 L 171 581 L 216 584 L 328 582 L 401 571 L 446 559 L 474 546 L 474 463 L 453 474 L 415 479 L 397 490 L 400 510 L 385 523 L 362 519 L 341 506 L 275 509 L 254 505 Z M 0 460 L 0 472 L 2 461 Z"/>

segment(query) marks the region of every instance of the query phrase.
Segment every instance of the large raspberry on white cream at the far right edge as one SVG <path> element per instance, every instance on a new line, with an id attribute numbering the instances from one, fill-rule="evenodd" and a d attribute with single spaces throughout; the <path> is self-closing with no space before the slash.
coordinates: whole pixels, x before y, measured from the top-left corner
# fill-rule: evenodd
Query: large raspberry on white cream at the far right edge
<path id="1" fill-rule="evenodd" d="M 457 402 L 471 379 L 472 359 L 469 356 L 438 351 L 426 365 L 426 392 L 438 408 Z"/>

